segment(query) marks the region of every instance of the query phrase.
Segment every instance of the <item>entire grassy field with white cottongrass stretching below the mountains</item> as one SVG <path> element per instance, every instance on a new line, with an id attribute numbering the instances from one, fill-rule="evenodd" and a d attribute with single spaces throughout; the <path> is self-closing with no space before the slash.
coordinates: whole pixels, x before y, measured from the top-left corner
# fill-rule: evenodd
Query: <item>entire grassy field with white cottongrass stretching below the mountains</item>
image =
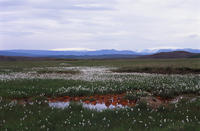
<path id="1" fill-rule="evenodd" d="M 0 130 L 198 131 L 199 70 L 196 58 L 0 62 Z M 134 106 L 85 107 L 108 94 Z M 88 100 L 50 106 L 60 97 Z"/>

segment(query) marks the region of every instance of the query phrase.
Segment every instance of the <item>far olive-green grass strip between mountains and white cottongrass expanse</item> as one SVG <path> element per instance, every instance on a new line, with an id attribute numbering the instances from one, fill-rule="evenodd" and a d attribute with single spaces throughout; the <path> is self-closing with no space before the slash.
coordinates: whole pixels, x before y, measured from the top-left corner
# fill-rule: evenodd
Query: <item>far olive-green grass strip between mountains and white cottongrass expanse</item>
<path id="1" fill-rule="evenodd" d="M 188 67 L 200 68 L 200 59 L 119 59 L 119 60 L 57 60 L 0 62 L 0 68 L 32 68 L 58 66 L 108 66 L 108 67 Z"/>

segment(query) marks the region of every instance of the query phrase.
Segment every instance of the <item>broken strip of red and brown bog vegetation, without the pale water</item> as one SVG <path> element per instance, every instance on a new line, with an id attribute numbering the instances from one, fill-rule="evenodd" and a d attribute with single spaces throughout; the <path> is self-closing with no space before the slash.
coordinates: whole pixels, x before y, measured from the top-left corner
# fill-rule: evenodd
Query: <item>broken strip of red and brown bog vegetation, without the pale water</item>
<path id="1" fill-rule="evenodd" d="M 57 98 L 48 98 L 49 102 L 83 102 L 85 104 L 91 104 L 91 105 L 96 105 L 96 104 L 105 104 L 105 106 L 128 106 L 128 107 L 133 107 L 136 105 L 136 103 L 139 102 L 146 102 L 149 106 L 153 108 L 158 108 L 160 106 L 167 106 L 170 103 L 176 103 L 179 100 L 181 100 L 183 97 L 179 96 L 174 99 L 164 99 L 162 97 L 152 97 L 152 96 L 147 96 L 147 97 L 141 97 L 140 100 L 127 100 L 124 99 L 124 96 L 126 94 L 108 94 L 108 95 L 95 95 L 95 96 L 82 96 L 82 97 L 70 97 L 70 96 L 63 96 L 63 97 L 57 97 Z M 188 97 L 184 97 L 188 98 Z M 26 103 L 32 102 L 32 99 L 15 99 L 18 104 L 24 105 Z"/>

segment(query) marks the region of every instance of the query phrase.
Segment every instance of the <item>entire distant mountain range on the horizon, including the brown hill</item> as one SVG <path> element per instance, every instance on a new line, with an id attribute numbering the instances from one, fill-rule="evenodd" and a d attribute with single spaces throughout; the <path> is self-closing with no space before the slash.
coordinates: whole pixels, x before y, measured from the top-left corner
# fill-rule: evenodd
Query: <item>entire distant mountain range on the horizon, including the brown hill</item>
<path id="1" fill-rule="evenodd" d="M 173 53 L 167 53 L 173 52 Z M 200 49 L 157 49 L 144 51 L 96 50 L 96 51 L 49 51 L 49 50 L 0 50 L 0 56 L 45 57 L 70 59 L 112 58 L 185 58 L 198 57 Z"/>

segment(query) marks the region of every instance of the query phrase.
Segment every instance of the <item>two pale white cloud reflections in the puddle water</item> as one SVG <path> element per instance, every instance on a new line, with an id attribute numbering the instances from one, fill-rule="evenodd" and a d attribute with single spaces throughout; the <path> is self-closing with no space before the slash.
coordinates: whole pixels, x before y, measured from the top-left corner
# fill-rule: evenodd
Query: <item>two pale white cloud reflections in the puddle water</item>
<path id="1" fill-rule="evenodd" d="M 49 106 L 52 108 L 58 108 L 58 109 L 64 109 L 69 107 L 70 102 L 49 102 Z M 126 106 L 123 105 L 109 105 L 106 106 L 105 103 L 98 103 L 96 105 L 92 105 L 92 104 L 85 104 L 82 103 L 83 108 L 87 108 L 87 109 L 91 109 L 91 110 L 97 110 L 97 111 L 102 111 L 102 110 L 106 110 L 106 109 L 118 109 L 118 108 L 125 108 Z"/>

